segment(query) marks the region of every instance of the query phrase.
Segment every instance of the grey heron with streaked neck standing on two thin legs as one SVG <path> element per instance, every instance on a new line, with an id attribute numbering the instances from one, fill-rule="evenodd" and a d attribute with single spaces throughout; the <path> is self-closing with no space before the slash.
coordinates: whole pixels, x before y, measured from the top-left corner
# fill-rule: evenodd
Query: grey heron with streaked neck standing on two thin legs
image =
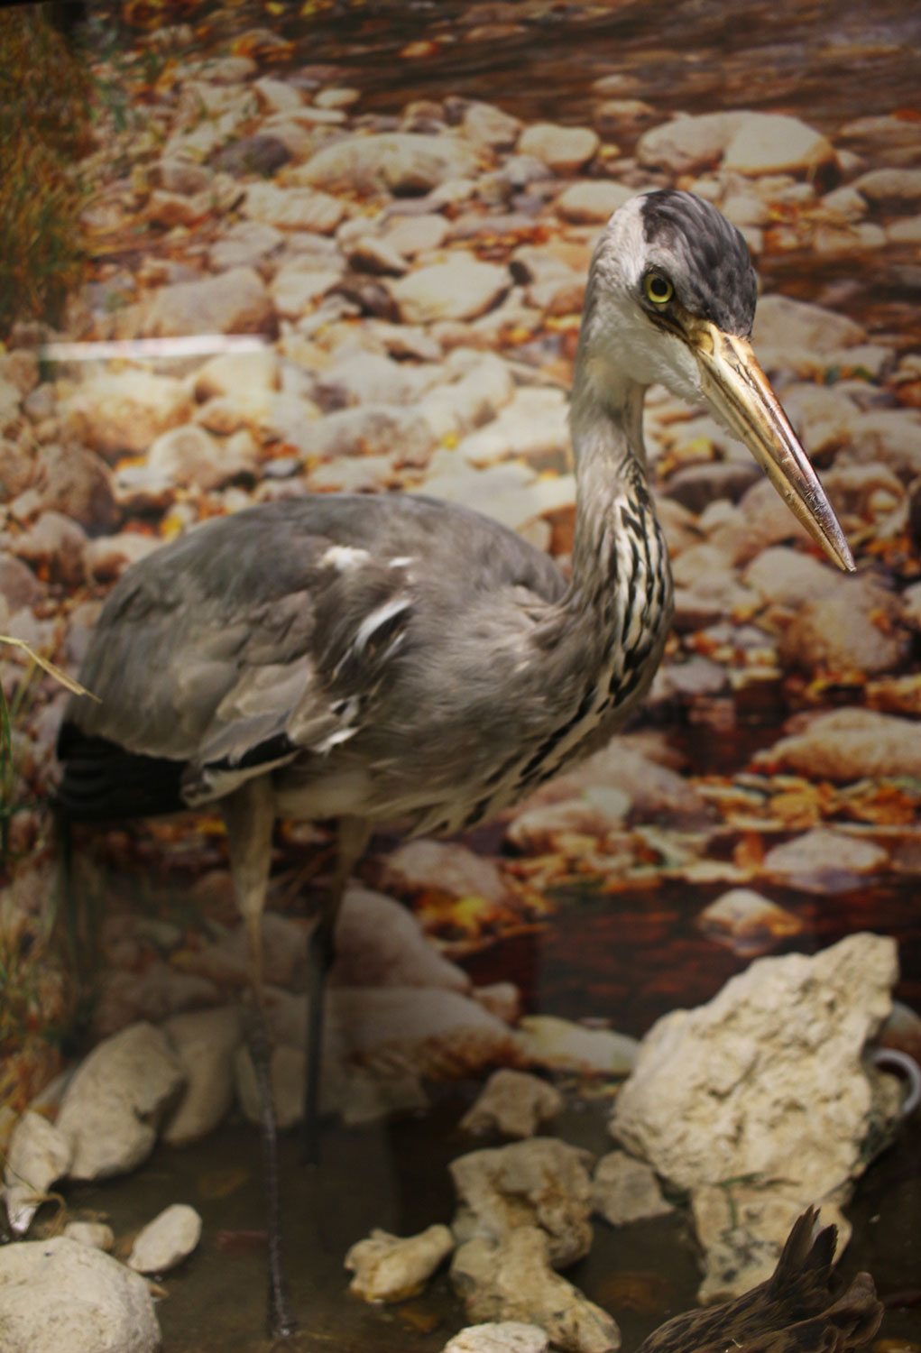
<path id="1" fill-rule="evenodd" d="M 60 737 L 73 820 L 216 806 L 261 989 L 277 817 L 337 823 L 310 939 L 306 1119 L 316 1153 L 323 978 L 379 823 L 471 828 L 606 743 L 672 614 L 642 442 L 648 386 L 703 400 L 841 567 L 841 528 L 749 345 L 756 280 L 711 204 L 630 199 L 595 249 L 571 400 L 572 572 L 477 513 L 330 494 L 212 520 L 128 568 Z"/>

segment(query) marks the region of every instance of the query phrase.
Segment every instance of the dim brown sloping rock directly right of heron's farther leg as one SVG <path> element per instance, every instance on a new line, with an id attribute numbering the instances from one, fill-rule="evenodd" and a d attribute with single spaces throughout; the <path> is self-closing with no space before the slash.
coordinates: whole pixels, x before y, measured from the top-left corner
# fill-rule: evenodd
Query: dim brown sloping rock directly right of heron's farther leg
<path id="1" fill-rule="evenodd" d="M 339 909 L 330 984 L 471 988 L 467 973 L 442 958 L 406 907 L 358 884 L 348 889 Z"/>

